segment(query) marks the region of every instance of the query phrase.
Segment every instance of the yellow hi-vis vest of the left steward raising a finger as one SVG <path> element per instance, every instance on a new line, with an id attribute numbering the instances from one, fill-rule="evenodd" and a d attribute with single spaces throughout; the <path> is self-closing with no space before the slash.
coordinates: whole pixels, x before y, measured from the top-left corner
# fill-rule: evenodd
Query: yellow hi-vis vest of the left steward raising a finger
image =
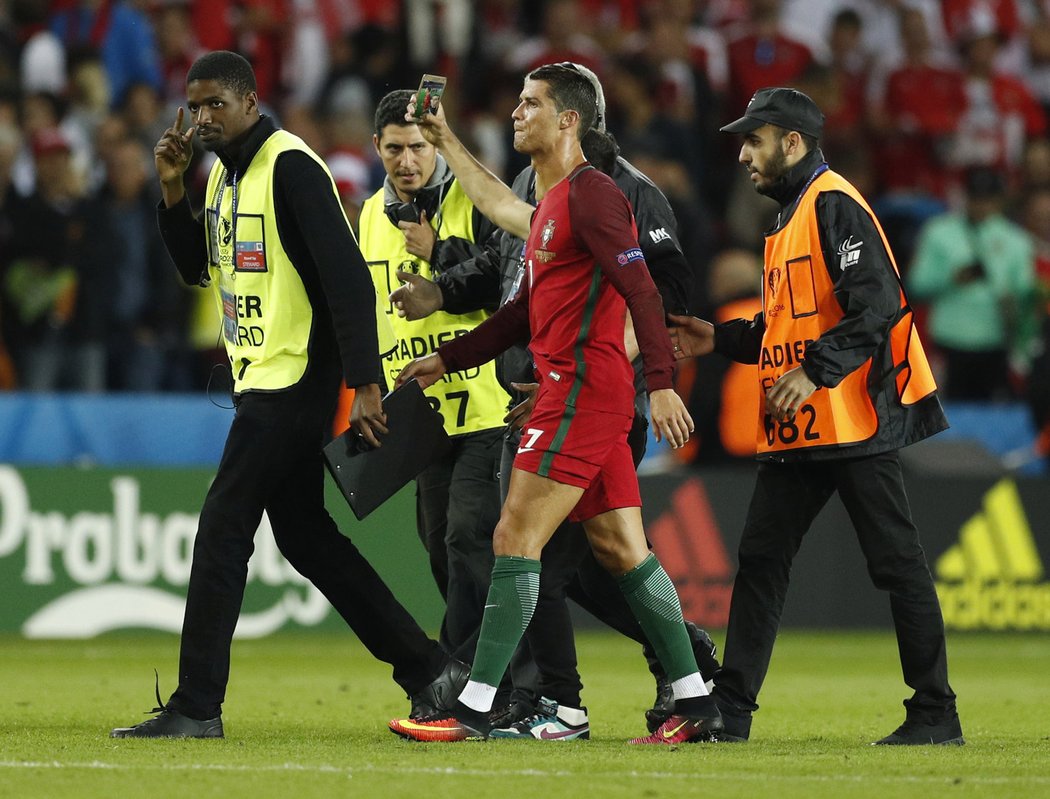
<path id="1" fill-rule="evenodd" d="M 208 175 L 208 276 L 237 394 L 294 385 L 306 374 L 310 357 L 314 309 L 281 244 L 274 209 L 274 165 L 288 150 L 306 152 L 332 178 L 324 162 L 286 130 L 275 131 L 262 143 L 244 174 L 236 176 L 235 188 L 224 185 L 226 169 L 220 161 Z M 332 191 L 338 197 L 334 181 Z M 385 304 L 377 294 L 380 352 L 388 351 L 394 342 L 390 325 L 383 323 Z"/>

